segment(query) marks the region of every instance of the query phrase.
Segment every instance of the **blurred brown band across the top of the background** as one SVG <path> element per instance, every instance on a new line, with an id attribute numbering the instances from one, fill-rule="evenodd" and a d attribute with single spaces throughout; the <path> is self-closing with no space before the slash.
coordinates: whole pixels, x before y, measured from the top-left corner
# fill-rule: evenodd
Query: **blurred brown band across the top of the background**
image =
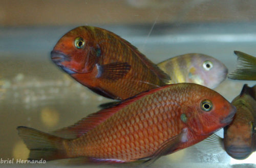
<path id="1" fill-rule="evenodd" d="M 0 2 L 2 26 L 254 21 L 253 0 L 55 0 Z"/>

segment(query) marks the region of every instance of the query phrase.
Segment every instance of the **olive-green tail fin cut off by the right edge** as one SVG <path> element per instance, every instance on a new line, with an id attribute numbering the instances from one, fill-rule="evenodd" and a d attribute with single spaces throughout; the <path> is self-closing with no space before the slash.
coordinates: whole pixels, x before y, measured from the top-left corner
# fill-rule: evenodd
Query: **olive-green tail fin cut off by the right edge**
<path id="1" fill-rule="evenodd" d="M 228 74 L 228 78 L 236 80 L 256 80 L 256 57 L 241 51 L 234 51 L 238 57 L 237 69 Z"/>

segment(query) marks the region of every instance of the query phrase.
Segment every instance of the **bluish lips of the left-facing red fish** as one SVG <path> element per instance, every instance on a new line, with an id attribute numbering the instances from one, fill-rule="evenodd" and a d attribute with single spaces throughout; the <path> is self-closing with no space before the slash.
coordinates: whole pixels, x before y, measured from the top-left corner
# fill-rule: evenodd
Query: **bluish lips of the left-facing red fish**
<path id="1" fill-rule="evenodd" d="M 74 73 L 76 73 L 75 71 L 72 71 L 71 69 L 69 69 L 69 68 L 67 68 L 67 67 L 65 67 L 65 66 L 63 66 L 63 65 L 61 64 L 63 61 L 70 61 L 70 58 L 69 58 L 66 54 L 64 54 L 64 53 L 62 53 L 62 52 L 60 52 L 60 51 L 54 51 L 54 50 L 52 50 L 52 51 L 51 51 L 51 59 L 52 59 L 52 61 L 53 61 L 58 67 L 60 67 L 63 71 L 67 72 L 68 74 L 74 74 Z"/>

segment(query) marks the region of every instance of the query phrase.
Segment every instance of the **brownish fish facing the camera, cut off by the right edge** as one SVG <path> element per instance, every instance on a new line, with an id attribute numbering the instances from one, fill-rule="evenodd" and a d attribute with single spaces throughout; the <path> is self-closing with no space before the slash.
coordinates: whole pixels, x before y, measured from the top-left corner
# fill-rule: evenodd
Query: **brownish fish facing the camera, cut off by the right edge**
<path id="1" fill-rule="evenodd" d="M 240 95 L 233 99 L 237 113 L 233 121 L 224 127 L 224 138 L 214 134 L 205 141 L 212 152 L 227 152 L 234 159 L 246 159 L 256 151 L 256 85 L 244 85 Z"/>

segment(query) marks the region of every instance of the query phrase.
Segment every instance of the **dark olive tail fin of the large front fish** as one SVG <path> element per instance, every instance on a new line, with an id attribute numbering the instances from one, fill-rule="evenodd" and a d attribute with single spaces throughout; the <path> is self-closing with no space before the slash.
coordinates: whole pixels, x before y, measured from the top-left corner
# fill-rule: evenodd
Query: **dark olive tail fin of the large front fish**
<path id="1" fill-rule="evenodd" d="M 17 127 L 18 135 L 30 150 L 28 160 L 55 160 L 67 158 L 62 142 L 64 138 L 28 127 Z"/>

